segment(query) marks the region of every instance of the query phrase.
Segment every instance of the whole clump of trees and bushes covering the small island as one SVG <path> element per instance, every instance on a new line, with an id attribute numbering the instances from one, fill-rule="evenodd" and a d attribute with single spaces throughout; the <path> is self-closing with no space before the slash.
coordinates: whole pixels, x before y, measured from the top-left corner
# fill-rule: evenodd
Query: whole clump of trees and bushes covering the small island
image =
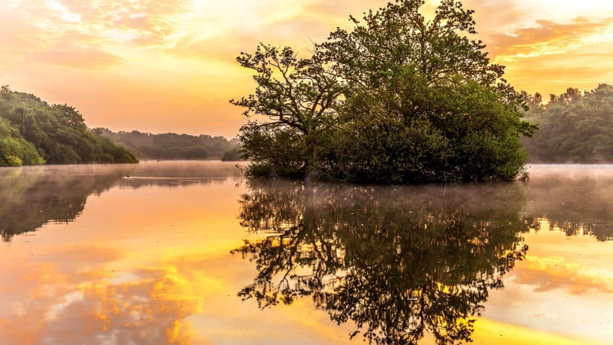
<path id="1" fill-rule="evenodd" d="M 351 31 L 337 29 L 308 59 L 261 44 L 238 62 L 255 93 L 232 104 L 253 176 L 322 174 L 360 182 L 509 180 L 525 171 L 524 98 L 490 64 L 473 11 L 444 0 L 397 0 Z M 262 122 L 262 115 L 270 121 Z"/>

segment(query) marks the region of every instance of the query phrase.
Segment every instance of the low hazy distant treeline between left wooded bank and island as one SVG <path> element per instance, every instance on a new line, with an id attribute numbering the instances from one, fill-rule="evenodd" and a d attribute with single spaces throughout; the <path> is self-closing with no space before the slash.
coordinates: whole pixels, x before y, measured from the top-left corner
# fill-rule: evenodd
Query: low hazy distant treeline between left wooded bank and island
<path id="1" fill-rule="evenodd" d="M 115 133 L 107 128 L 96 128 L 94 133 L 124 147 L 141 160 L 240 160 L 238 140 L 227 140 L 222 136 L 139 131 Z"/>

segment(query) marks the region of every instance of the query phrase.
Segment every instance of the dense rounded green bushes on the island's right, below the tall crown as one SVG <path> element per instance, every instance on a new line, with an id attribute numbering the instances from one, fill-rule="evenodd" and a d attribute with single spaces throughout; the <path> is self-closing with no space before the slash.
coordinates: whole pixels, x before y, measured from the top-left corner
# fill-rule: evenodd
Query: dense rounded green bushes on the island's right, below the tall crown
<path id="1" fill-rule="evenodd" d="M 526 154 L 519 137 L 531 127 L 495 89 L 461 77 L 428 87 L 410 73 L 393 82 L 392 93 L 387 90 L 369 90 L 346 103 L 344 125 L 332 130 L 326 150 L 332 155 L 319 160 L 333 176 L 372 182 L 507 180 L 522 171 Z"/>

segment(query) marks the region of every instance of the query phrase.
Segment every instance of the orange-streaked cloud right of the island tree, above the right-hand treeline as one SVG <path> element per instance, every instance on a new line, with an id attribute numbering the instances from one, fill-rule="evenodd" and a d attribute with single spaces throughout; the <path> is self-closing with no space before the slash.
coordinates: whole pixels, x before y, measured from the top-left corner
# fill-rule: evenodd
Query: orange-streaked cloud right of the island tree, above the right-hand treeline
<path id="1" fill-rule="evenodd" d="M 482 39 L 506 78 L 520 90 L 560 93 L 568 87 L 591 90 L 611 82 L 613 17 L 535 20 Z"/>

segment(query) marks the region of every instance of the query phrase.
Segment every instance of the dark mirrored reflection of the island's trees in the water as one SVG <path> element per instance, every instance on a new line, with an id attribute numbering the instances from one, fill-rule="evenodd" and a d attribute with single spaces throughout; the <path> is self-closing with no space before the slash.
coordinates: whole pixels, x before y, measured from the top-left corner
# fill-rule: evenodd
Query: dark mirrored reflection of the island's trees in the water
<path id="1" fill-rule="evenodd" d="M 257 277 L 239 295 L 261 308 L 309 295 L 370 342 L 470 341 L 490 289 L 527 246 L 518 184 L 444 187 L 253 182 L 240 219 L 265 235 L 234 250 Z"/>

